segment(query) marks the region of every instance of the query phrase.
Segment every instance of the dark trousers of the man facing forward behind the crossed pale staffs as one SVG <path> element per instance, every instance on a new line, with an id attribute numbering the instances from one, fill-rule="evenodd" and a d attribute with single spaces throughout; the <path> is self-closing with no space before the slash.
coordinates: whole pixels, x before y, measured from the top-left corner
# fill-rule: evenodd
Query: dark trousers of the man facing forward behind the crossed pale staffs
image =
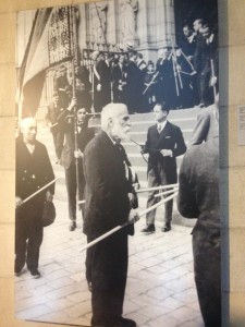
<path id="1" fill-rule="evenodd" d="M 150 168 L 147 173 L 148 178 L 148 187 L 155 187 L 160 185 L 168 185 L 170 182 L 168 182 L 168 177 L 166 174 L 166 171 L 162 169 L 161 166 L 157 167 L 156 169 Z M 171 183 L 172 184 L 172 183 Z M 168 189 L 171 190 L 171 189 Z M 156 194 L 158 194 L 159 191 L 151 191 L 148 192 L 148 201 L 147 201 L 147 208 L 155 205 L 157 202 L 160 201 L 160 197 L 155 197 Z M 166 195 L 167 197 L 169 195 Z M 166 203 L 166 214 L 164 214 L 164 222 L 171 223 L 172 220 L 172 213 L 173 213 L 173 199 L 170 199 Z M 155 223 L 155 216 L 156 216 L 156 209 L 149 211 L 146 215 L 146 223 L 147 225 L 154 225 Z"/>

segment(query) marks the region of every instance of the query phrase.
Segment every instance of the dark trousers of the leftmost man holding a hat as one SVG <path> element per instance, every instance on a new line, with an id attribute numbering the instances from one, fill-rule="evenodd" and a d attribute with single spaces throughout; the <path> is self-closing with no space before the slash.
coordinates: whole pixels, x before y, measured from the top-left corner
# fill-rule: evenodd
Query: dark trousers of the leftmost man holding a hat
<path id="1" fill-rule="evenodd" d="M 32 214 L 32 217 L 30 217 Z M 35 217 L 33 216 L 35 215 Z M 44 237 L 44 228 L 37 217 L 37 210 L 33 209 L 26 216 L 16 214 L 15 219 L 15 272 L 21 271 L 25 262 L 28 270 L 38 267 L 39 250 Z"/>

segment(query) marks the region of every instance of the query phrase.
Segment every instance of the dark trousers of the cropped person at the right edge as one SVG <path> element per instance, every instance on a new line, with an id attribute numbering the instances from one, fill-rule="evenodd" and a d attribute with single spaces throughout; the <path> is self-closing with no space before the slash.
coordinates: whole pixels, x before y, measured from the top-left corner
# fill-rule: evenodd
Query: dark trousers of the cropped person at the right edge
<path id="1" fill-rule="evenodd" d="M 206 327 L 221 326 L 220 231 L 194 229 L 194 271 L 200 312 Z"/>

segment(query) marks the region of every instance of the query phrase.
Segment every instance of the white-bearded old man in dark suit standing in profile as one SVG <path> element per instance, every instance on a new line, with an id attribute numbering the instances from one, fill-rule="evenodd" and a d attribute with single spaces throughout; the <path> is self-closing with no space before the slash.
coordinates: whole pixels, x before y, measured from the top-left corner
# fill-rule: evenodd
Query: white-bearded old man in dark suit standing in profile
<path id="1" fill-rule="evenodd" d="M 126 179 L 127 158 L 120 145 L 130 130 L 123 104 L 109 104 L 101 111 L 101 129 L 84 153 L 86 203 L 84 233 L 88 242 L 128 221 L 136 195 Z M 91 326 L 135 327 L 122 317 L 127 275 L 130 225 L 90 249 Z"/>

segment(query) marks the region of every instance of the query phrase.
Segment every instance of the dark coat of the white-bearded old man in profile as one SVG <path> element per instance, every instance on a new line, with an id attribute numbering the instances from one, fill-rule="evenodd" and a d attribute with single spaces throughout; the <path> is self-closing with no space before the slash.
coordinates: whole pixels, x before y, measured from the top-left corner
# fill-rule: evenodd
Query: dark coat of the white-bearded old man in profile
<path id="1" fill-rule="evenodd" d="M 127 221 L 127 193 L 133 192 L 133 186 L 125 177 L 125 165 L 121 152 L 103 131 L 97 134 L 85 149 L 84 232 L 89 238 L 99 237 Z"/>

